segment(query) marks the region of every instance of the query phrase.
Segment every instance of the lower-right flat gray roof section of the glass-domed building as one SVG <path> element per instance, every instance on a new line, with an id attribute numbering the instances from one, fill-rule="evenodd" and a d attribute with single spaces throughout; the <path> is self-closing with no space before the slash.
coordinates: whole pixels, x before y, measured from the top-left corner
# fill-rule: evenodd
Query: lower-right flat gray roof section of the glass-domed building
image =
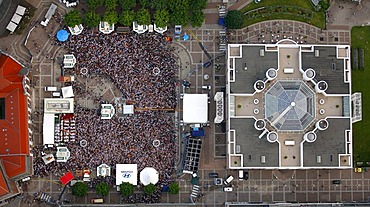
<path id="1" fill-rule="evenodd" d="M 349 118 L 328 118 L 329 127 L 324 131 L 317 131 L 317 139 L 313 143 L 303 144 L 304 167 L 338 167 L 338 154 L 345 154 L 345 130 L 349 130 Z M 321 156 L 321 163 L 317 163 L 317 156 Z"/>

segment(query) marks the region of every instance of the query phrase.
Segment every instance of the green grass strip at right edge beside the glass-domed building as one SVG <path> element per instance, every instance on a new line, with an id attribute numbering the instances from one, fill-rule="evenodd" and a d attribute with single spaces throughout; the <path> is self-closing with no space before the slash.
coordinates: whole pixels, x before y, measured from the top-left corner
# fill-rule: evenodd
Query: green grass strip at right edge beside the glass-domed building
<path id="1" fill-rule="evenodd" d="M 352 93 L 362 92 L 362 121 L 353 125 L 354 161 L 370 162 L 370 27 L 353 27 L 351 47 L 363 48 L 364 70 L 352 70 Z"/>

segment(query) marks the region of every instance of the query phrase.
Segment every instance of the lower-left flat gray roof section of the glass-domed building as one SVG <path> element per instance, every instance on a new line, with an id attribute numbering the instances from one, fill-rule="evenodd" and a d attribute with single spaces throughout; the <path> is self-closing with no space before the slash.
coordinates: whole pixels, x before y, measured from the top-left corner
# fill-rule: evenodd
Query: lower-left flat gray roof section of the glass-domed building
<path id="1" fill-rule="evenodd" d="M 266 136 L 259 139 L 262 131 L 254 128 L 253 118 L 230 119 L 230 122 L 230 128 L 235 129 L 236 144 L 244 156 L 244 167 L 279 167 L 279 144 L 268 142 Z M 261 163 L 261 156 L 265 156 L 265 163 Z"/>

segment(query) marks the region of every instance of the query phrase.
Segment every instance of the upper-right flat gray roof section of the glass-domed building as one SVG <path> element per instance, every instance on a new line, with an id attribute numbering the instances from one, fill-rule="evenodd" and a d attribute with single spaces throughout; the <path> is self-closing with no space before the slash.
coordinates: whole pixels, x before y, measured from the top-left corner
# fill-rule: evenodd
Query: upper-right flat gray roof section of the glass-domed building
<path id="1" fill-rule="evenodd" d="M 302 52 L 302 69 L 312 68 L 316 71 L 317 81 L 325 80 L 328 83 L 328 94 L 348 94 L 350 85 L 344 83 L 344 60 L 337 59 L 335 46 L 315 46 L 319 50 L 319 57 L 315 52 Z M 335 64 L 335 69 L 333 69 Z"/>

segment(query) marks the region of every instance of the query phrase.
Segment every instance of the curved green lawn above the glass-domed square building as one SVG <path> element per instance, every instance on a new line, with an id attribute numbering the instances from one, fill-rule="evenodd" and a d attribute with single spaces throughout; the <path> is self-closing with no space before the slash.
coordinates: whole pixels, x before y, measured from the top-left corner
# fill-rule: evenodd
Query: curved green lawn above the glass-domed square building
<path id="1" fill-rule="evenodd" d="M 296 20 L 300 22 L 307 22 L 312 24 L 316 27 L 325 29 L 325 13 L 324 12 L 317 12 L 314 10 L 313 6 L 311 5 L 309 0 L 264 0 L 260 3 L 256 4 L 254 2 L 248 4 L 246 7 L 241 9 L 240 11 L 245 14 L 248 11 L 255 10 L 261 7 L 276 7 L 276 6 L 293 6 L 293 7 L 300 7 L 302 10 L 308 10 L 312 12 L 312 18 L 307 19 L 302 16 L 297 16 L 294 10 L 291 13 L 276 13 L 271 11 L 268 16 L 261 16 L 257 18 L 245 18 L 243 27 L 249 26 L 251 24 L 255 24 L 257 22 L 262 22 L 266 20 L 274 20 L 274 19 L 289 19 L 289 20 Z"/>

